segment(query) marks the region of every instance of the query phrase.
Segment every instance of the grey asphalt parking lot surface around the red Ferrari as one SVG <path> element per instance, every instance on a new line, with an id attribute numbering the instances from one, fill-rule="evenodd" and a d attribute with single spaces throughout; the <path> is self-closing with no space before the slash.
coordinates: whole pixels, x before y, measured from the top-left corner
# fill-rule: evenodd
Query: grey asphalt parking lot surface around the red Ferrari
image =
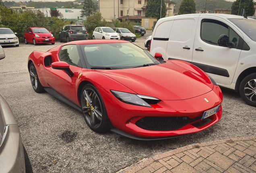
<path id="1" fill-rule="evenodd" d="M 134 44 L 146 50 L 145 38 Z M 256 134 L 256 108 L 226 89 L 222 90 L 221 120 L 199 133 L 147 142 L 115 133 L 94 133 L 79 111 L 48 93 L 33 91 L 27 58 L 33 50 L 46 51 L 54 46 L 8 46 L 4 48 L 6 58 L 0 60 L 0 93 L 17 119 L 34 173 L 117 172 L 145 157 L 185 145 Z"/>

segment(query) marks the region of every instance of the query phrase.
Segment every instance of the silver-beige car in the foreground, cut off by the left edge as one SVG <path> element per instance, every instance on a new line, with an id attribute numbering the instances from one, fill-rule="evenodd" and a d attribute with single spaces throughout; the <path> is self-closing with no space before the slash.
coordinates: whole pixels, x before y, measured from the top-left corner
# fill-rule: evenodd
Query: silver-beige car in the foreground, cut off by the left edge
<path id="1" fill-rule="evenodd" d="M 0 46 L 0 60 L 4 57 L 3 48 Z M 0 172 L 33 173 L 21 141 L 17 121 L 2 95 L 0 95 Z"/>

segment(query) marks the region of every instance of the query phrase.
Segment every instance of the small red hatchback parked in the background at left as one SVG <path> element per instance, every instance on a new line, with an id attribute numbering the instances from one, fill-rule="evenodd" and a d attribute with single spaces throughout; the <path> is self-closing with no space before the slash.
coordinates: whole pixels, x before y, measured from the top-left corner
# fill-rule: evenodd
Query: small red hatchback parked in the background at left
<path id="1" fill-rule="evenodd" d="M 43 27 L 31 27 L 27 28 L 24 34 L 25 44 L 32 42 L 34 45 L 41 43 L 52 43 L 55 44 L 55 38 L 52 32 L 48 31 Z"/>

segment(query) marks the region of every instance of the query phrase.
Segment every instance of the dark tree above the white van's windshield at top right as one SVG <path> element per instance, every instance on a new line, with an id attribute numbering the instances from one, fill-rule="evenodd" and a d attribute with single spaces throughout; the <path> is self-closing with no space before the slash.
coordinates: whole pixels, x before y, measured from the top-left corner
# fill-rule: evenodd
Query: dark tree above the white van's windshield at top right
<path id="1" fill-rule="evenodd" d="M 253 0 L 236 0 L 231 6 L 231 14 L 240 15 L 240 11 L 244 8 L 246 11 L 246 16 L 254 15 L 254 2 Z M 240 4 L 240 8 L 239 8 Z"/>

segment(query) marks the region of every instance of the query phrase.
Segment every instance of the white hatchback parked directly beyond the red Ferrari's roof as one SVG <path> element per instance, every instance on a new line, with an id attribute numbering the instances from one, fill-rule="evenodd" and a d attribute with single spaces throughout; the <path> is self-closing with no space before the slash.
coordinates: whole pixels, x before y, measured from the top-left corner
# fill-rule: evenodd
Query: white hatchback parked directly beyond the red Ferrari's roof
<path id="1" fill-rule="evenodd" d="M 93 31 L 93 39 L 120 40 L 120 36 L 112 28 L 109 28 L 109 27 L 97 27 Z"/>

